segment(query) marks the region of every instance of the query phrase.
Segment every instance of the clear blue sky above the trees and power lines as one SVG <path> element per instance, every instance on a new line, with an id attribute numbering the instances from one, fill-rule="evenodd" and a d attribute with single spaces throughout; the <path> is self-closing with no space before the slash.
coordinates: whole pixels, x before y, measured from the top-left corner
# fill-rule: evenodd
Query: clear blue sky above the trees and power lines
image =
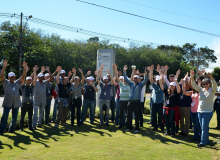
<path id="1" fill-rule="evenodd" d="M 123 0 L 84 1 L 220 35 L 219 0 L 128 0 L 170 12 L 216 20 L 219 22 L 206 21 L 162 12 L 128 3 Z M 197 43 L 198 47 L 208 46 L 216 51 L 217 56 L 220 54 L 220 38 L 133 17 L 77 2 L 75 0 L 38 0 L 34 2 L 30 2 L 28 0 L 7 0 L 1 2 L 0 12 L 17 14 L 23 12 L 26 16 L 33 15 L 33 17 L 52 22 L 156 44 L 183 45 L 184 43 Z M 0 17 L 0 22 L 5 20 L 9 19 Z M 19 21 L 18 19 L 11 20 L 13 22 Z M 57 33 L 58 35 L 61 35 L 62 38 L 66 39 L 86 40 L 91 37 L 75 32 L 46 27 L 35 24 L 31 21 L 29 22 L 29 25 L 31 28 L 43 29 L 45 34 Z M 215 66 L 217 66 L 217 64 L 211 64 L 210 68 Z"/>

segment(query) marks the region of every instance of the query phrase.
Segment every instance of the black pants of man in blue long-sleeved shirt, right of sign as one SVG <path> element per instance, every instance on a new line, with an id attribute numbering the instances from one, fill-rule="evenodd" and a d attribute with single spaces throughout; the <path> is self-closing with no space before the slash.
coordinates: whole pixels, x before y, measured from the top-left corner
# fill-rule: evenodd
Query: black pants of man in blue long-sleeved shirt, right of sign
<path id="1" fill-rule="evenodd" d="M 129 101 L 127 107 L 127 128 L 132 130 L 132 113 L 135 114 L 135 130 L 139 130 L 140 100 Z"/>

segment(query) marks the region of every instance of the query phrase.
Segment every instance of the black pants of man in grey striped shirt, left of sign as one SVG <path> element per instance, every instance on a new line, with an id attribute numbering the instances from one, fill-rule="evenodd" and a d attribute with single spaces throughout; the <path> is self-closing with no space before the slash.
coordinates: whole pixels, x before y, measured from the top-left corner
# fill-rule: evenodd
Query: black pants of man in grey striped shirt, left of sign
<path id="1" fill-rule="evenodd" d="M 70 110 L 71 110 L 71 124 L 74 124 L 75 119 L 75 108 L 77 108 L 77 124 L 80 124 L 80 115 L 81 115 L 81 106 L 82 106 L 82 99 L 72 99 L 70 100 Z"/>

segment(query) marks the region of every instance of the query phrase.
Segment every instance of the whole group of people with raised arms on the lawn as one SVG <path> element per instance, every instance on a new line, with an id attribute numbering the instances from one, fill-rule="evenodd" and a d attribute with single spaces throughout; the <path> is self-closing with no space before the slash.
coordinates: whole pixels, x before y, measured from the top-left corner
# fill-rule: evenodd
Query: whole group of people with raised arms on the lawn
<path id="1" fill-rule="evenodd" d="M 86 120 L 89 108 L 90 123 L 94 124 L 96 98 L 99 99 L 100 125 L 105 121 L 109 125 L 109 119 L 121 129 L 126 126 L 125 131 L 132 131 L 132 119 L 135 117 L 135 133 L 143 127 L 143 110 L 145 101 L 146 84 L 150 81 L 150 108 L 152 130 L 160 130 L 164 135 L 174 137 L 176 134 L 187 136 L 189 133 L 190 119 L 194 124 L 193 141 L 198 141 L 198 147 L 205 147 L 209 144 L 209 122 L 214 110 L 217 112 L 217 128 L 220 128 L 220 88 L 213 79 L 211 73 L 200 72 L 200 76 L 194 80 L 193 70 L 185 74 L 180 82 L 178 78 L 180 70 L 176 74 L 169 75 L 169 67 L 157 65 L 158 75 L 153 75 L 154 66 L 144 67 L 144 73 L 136 70 L 132 65 L 131 77 L 127 76 L 127 65 L 123 68 L 123 73 L 118 71 L 113 64 L 114 75 L 102 76 L 104 66 L 95 72 L 96 80 L 88 71 L 84 77 L 82 69 L 79 69 L 80 77 L 76 76 L 76 69 L 68 72 L 60 66 L 51 74 L 49 67 L 33 67 L 33 73 L 26 76 L 29 67 L 23 62 L 23 74 L 15 80 L 15 73 L 8 73 L 8 79 L 4 77 L 4 72 L 8 66 L 8 61 L 3 61 L 1 71 L 1 81 L 4 87 L 4 107 L 0 123 L 0 135 L 3 135 L 10 110 L 12 109 L 12 121 L 9 132 L 14 133 L 19 107 L 21 107 L 20 131 L 24 128 L 24 117 L 28 112 L 28 127 L 35 130 L 42 127 L 44 119 L 45 125 L 50 126 L 49 115 L 51 100 L 55 99 L 52 122 L 57 128 L 59 124 L 66 126 L 67 114 L 70 111 L 71 126 L 74 125 L 75 114 L 77 115 L 77 126 L 81 126 Z M 47 73 L 44 75 L 44 72 Z M 71 77 L 72 76 L 72 77 Z M 208 78 L 208 77 L 209 78 Z M 70 79 L 71 78 L 71 79 Z M 55 82 L 55 89 L 51 81 Z M 96 97 L 99 86 L 101 93 Z M 20 99 L 19 89 L 22 91 Z M 214 97 L 217 95 L 215 102 Z M 83 102 L 82 102 L 83 97 Z M 214 106 L 214 107 L 213 107 Z M 76 110 L 75 110 L 76 109 Z M 109 115 L 111 110 L 111 116 Z M 105 115 L 103 112 L 105 111 Z M 115 114 L 116 111 L 116 114 Z M 157 116 L 158 115 L 158 116 Z M 179 132 L 180 124 L 180 132 Z"/>

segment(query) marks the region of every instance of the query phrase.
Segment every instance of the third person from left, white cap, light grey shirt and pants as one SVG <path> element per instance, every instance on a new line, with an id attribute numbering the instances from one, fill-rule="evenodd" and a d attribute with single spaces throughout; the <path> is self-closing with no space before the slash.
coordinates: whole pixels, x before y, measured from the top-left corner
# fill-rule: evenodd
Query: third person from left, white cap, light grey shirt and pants
<path id="1" fill-rule="evenodd" d="M 50 75 L 50 79 L 44 80 L 44 72 L 48 71 Z M 47 66 L 46 68 L 44 66 L 41 67 L 41 72 L 38 74 L 38 80 L 36 81 L 35 87 L 34 87 L 34 115 L 33 115 L 33 128 L 37 129 L 36 127 L 42 126 L 42 118 L 43 118 L 43 112 L 44 108 L 47 105 L 47 99 L 46 99 L 46 86 L 48 83 L 52 80 L 52 75 L 50 73 L 50 69 Z M 39 117 L 38 117 L 38 110 L 39 110 Z M 37 121 L 38 117 L 38 121 Z M 37 125 L 38 124 L 38 125 Z"/>

